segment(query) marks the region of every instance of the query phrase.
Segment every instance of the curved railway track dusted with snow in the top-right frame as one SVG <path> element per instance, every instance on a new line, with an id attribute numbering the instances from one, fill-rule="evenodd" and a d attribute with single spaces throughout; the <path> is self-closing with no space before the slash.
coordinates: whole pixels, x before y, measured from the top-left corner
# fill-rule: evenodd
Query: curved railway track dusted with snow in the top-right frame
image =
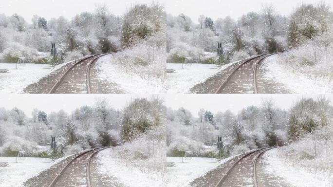
<path id="1" fill-rule="evenodd" d="M 259 93 L 257 84 L 258 66 L 267 57 L 279 53 L 264 54 L 244 60 L 227 75 L 215 93 Z"/>

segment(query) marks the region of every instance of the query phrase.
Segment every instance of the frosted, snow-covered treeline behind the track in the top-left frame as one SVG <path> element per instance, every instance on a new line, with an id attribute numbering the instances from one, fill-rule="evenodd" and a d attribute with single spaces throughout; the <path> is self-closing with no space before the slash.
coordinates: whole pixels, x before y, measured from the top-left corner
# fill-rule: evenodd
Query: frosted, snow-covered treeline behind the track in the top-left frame
<path id="1" fill-rule="evenodd" d="M 73 19 L 46 20 L 35 15 L 32 24 L 18 14 L 0 15 L 0 60 L 49 63 L 51 42 L 56 43 L 56 61 L 61 63 L 91 54 L 120 51 L 155 35 L 163 27 L 158 3 L 135 4 L 123 16 L 113 15 L 107 4 L 82 12 Z M 165 22 L 165 21 L 164 21 Z"/>

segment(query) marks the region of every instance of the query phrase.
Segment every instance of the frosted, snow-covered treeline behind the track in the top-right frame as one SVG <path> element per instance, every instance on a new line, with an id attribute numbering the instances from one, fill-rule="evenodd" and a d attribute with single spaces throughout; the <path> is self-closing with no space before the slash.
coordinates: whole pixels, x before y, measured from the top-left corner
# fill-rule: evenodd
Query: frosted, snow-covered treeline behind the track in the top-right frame
<path id="1" fill-rule="evenodd" d="M 168 62 L 182 63 L 185 57 L 191 57 L 192 62 L 217 63 L 218 42 L 222 43 L 224 63 L 286 51 L 327 33 L 332 20 L 330 7 L 324 2 L 300 4 L 288 17 L 279 15 L 271 4 L 263 5 L 261 12 L 249 12 L 237 20 L 230 17 L 212 20 L 201 15 L 196 24 L 184 14 L 167 15 Z"/>

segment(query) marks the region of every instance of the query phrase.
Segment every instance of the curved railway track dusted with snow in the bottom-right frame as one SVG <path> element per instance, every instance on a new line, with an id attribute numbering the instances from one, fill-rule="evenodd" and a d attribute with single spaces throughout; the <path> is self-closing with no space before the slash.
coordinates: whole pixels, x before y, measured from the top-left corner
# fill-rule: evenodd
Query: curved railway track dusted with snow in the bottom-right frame
<path id="1" fill-rule="evenodd" d="M 281 146 L 263 148 L 244 154 L 222 175 L 215 187 L 258 187 L 257 163 L 259 157 L 264 152 L 279 147 Z M 249 178 L 252 178 L 252 181 L 246 180 Z"/>

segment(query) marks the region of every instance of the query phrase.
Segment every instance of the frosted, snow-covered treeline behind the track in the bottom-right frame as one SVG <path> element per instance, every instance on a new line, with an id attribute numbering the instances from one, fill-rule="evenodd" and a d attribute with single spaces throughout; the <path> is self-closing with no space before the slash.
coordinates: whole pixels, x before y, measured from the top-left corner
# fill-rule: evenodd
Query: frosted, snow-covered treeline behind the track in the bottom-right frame
<path id="1" fill-rule="evenodd" d="M 184 108 L 167 110 L 167 147 L 169 156 L 218 157 L 217 137 L 222 137 L 222 156 L 248 150 L 289 144 L 307 134 L 332 125 L 333 106 L 324 97 L 299 99 L 288 111 L 279 109 L 274 100 L 261 106 L 249 106 L 237 114 L 201 109 L 198 117 Z"/>

